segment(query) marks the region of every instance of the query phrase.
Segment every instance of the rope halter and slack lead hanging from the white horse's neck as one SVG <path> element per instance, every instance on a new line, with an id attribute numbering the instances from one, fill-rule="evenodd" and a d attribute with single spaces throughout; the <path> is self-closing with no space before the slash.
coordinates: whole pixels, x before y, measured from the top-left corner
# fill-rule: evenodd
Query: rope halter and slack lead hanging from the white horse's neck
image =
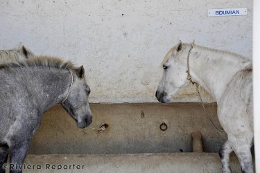
<path id="1" fill-rule="evenodd" d="M 191 44 L 191 49 L 193 49 L 193 44 Z M 204 102 L 202 101 L 202 97 L 200 95 L 200 91 L 198 89 L 198 83 L 197 82 L 194 82 L 192 79 L 191 79 L 191 74 L 189 73 L 189 55 L 191 54 L 191 49 L 189 50 L 189 53 L 188 53 L 188 57 L 187 57 L 187 67 L 188 67 L 188 70 L 187 70 L 187 73 L 188 73 L 188 77 L 187 77 L 187 80 L 191 81 L 191 84 L 196 84 L 196 90 L 198 92 L 198 95 L 200 97 L 200 102 L 202 104 L 202 107 L 207 115 L 207 118 L 209 118 L 210 122 L 212 123 L 212 125 L 214 125 L 214 127 L 218 130 L 218 131 L 222 131 L 222 132 L 225 132 L 223 129 L 219 129 L 218 127 L 216 127 L 216 125 L 214 124 L 213 120 L 211 120 L 210 116 L 209 116 L 209 113 L 207 113 L 206 109 L 205 109 L 205 105 L 204 105 Z"/>

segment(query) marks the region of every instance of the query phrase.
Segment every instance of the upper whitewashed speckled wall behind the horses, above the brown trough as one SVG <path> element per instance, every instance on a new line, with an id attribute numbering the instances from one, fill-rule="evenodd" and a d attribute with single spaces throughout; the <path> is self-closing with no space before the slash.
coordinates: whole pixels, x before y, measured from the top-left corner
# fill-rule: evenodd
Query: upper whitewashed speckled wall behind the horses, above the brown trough
<path id="1" fill-rule="evenodd" d="M 207 17 L 211 8 L 243 7 L 247 16 Z M 90 102 L 157 102 L 160 63 L 180 39 L 252 58 L 249 0 L 3 0 L 0 9 L 0 49 L 24 44 L 83 64 Z M 197 102 L 195 91 L 173 102 Z"/>

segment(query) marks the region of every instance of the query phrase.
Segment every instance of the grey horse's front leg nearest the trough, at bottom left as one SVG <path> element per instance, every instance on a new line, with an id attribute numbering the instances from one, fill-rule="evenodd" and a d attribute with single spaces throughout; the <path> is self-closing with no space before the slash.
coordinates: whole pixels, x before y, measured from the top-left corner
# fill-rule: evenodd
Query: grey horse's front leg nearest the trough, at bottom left
<path id="1" fill-rule="evenodd" d="M 21 143 L 12 147 L 10 151 L 10 165 L 14 165 L 15 169 L 10 170 L 10 173 L 22 172 L 22 165 L 26 157 L 30 141 L 21 141 Z"/>

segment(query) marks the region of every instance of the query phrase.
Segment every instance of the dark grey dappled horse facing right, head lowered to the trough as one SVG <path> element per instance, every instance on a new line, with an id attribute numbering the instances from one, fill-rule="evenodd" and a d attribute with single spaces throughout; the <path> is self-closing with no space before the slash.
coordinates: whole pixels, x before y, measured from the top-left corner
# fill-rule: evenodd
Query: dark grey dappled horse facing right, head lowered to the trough
<path id="1" fill-rule="evenodd" d="M 92 122 L 89 86 L 83 66 L 58 58 L 37 57 L 0 65 L 0 172 L 10 154 L 10 163 L 23 165 L 42 114 L 61 103 L 78 127 Z M 21 170 L 10 170 L 21 172 Z"/>

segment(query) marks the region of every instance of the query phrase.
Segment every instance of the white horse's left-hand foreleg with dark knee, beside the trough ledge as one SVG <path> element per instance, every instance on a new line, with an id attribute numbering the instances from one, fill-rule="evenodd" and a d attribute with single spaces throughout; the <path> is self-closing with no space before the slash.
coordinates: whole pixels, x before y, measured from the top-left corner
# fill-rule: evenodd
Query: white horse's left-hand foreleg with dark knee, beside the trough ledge
<path id="1" fill-rule="evenodd" d="M 222 163 L 222 172 L 231 172 L 229 165 L 229 156 L 231 152 L 233 152 L 233 149 L 230 146 L 229 141 L 227 140 L 218 151 Z"/>

